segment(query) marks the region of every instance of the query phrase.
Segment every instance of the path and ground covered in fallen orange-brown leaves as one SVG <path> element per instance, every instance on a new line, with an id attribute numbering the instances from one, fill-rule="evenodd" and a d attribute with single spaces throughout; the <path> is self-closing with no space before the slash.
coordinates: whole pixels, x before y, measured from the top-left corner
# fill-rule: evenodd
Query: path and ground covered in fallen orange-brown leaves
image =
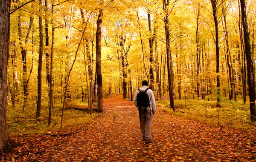
<path id="1" fill-rule="evenodd" d="M 145 144 L 139 114 L 122 96 L 104 100 L 104 113 L 67 136 L 13 136 L 20 144 L 0 156 L 5 162 L 252 162 L 256 132 L 157 112 L 152 122 L 154 143 Z"/>

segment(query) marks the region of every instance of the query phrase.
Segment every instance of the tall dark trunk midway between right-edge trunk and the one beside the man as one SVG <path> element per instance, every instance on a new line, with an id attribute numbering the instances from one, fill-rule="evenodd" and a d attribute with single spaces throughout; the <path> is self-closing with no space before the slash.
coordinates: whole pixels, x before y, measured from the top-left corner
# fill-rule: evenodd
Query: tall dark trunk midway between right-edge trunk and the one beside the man
<path id="1" fill-rule="evenodd" d="M 217 17 L 217 1 L 218 0 L 211 0 L 212 3 L 212 11 L 213 11 L 213 19 L 215 24 L 215 50 L 216 50 L 216 80 L 217 80 L 217 107 L 221 107 L 220 95 L 221 95 L 221 80 L 220 80 L 220 50 L 219 50 L 219 37 L 218 37 L 218 17 Z"/>

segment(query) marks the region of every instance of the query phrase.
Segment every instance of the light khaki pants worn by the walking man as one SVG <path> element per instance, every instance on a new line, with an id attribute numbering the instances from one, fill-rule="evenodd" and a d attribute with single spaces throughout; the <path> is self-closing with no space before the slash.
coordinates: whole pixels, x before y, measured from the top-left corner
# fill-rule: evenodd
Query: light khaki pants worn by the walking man
<path id="1" fill-rule="evenodd" d="M 140 131 L 143 138 L 151 138 L 151 123 L 153 118 L 153 112 L 150 111 L 150 107 L 147 107 L 147 111 L 144 108 L 140 109 L 141 120 L 140 120 Z M 151 114 L 151 115 L 150 115 Z"/>

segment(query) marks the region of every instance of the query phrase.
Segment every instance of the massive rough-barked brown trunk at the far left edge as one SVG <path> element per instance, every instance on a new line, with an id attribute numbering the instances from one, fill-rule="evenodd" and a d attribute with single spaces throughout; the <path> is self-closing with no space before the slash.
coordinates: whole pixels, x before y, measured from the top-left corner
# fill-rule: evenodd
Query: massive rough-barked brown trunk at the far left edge
<path id="1" fill-rule="evenodd" d="M 10 17 L 9 0 L 0 0 L 0 155 L 12 150 L 12 142 L 6 126 L 7 64 L 9 58 Z"/>

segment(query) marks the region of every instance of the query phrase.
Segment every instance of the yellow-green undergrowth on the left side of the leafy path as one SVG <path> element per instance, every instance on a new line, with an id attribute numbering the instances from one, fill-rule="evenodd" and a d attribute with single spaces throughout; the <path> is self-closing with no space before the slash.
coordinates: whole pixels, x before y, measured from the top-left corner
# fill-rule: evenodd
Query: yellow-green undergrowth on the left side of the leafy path
<path id="1" fill-rule="evenodd" d="M 28 102 L 23 111 L 22 105 L 16 105 L 13 108 L 8 105 L 7 108 L 7 129 L 10 136 L 22 134 L 42 134 L 51 131 L 52 133 L 59 133 L 61 126 L 62 104 L 58 103 L 52 108 L 52 122 L 48 127 L 48 103 L 42 102 L 41 117 L 39 120 L 36 117 L 36 104 Z M 69 130 L 76 126 L 84 125 L 90 122 L 98 114 L 93 112 L 90 115 L 88 105 L 85 102 L 73 102 L 69 108 L 64 110 L 62 131 Z"/>

